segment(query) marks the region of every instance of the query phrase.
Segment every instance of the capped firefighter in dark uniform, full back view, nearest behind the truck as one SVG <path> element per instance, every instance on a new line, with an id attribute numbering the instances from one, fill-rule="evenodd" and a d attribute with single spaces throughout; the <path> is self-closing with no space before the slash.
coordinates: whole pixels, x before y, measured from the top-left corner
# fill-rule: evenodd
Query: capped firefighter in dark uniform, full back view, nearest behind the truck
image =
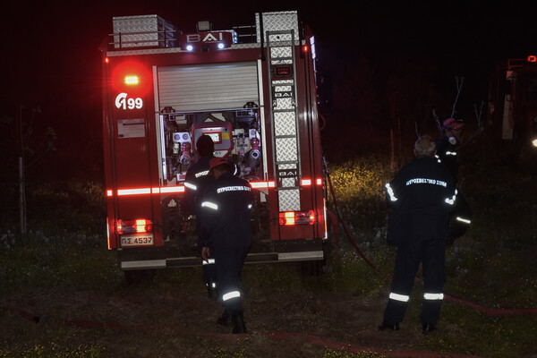
<path id="1" fill-rule="evenodd" d="M 209 163 L 214 182 L 203 202 L 202 223 L 204 260 L 213 255 L 217 265 L 217 278 L 225 311 L 218 320 L 227 325 L 229 320 L 233 333 L 246 333 L 243 317 L 241 271 L 251 246 L 250 183 L 231 172 L 225 158 L 213 158 Z"/>

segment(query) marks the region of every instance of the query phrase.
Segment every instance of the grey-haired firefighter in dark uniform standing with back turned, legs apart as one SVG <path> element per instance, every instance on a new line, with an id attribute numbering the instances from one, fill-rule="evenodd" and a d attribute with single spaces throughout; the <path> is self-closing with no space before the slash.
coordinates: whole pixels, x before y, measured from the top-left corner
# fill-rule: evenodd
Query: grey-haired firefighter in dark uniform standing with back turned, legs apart
<path id="1" fill-rule="evenodd" d="M 392 211 L 388 243 L 397 245 L 396 265 L 384 320 L 379 330 L 398 330 L 405 317 L 414 277 L 423 273 L 422 328 L 427 334 L 439 320 L 444 294 L 445 251 L 449 211 L 456 201 L 453 175 L 434 158 L 429 136 L 414 144 L 413 163 L 403 167 L 386 185 Z"/>

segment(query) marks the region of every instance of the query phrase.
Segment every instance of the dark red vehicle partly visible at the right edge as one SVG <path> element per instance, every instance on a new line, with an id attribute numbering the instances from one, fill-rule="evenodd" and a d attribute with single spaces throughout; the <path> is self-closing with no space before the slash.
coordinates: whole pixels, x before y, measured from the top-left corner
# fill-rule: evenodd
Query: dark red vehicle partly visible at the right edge
<path id="1" fill-rule="evenodd" d="M 537 152 L 537 56 L 497 65 L 490 85 L 490 121 L 519 154 Z"/>

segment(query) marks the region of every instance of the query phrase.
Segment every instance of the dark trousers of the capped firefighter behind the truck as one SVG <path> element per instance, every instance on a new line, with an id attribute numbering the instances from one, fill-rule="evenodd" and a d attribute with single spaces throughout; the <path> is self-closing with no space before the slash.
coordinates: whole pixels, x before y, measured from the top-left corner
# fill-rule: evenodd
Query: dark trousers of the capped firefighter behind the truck
<path id="1" fill-rule="evenodd" d="M 243 247 L 217 247 L 215 249 L 217 278 L 220 294 L 222 294 L 222 303 L 230 315 L 243 313 L 241 271 L 249 250 L 249 248 Z"/>

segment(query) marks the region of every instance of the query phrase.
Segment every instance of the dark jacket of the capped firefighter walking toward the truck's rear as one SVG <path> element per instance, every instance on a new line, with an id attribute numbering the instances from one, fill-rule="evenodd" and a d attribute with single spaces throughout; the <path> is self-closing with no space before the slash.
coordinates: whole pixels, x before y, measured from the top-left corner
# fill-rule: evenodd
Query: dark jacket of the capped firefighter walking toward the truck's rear
<path id="1" fill-rule="evenodd" d="M 230 172 L 212 182 L 200 209 L 203 246 L 250 247 L 252 198 L 250 183 Z"/>

